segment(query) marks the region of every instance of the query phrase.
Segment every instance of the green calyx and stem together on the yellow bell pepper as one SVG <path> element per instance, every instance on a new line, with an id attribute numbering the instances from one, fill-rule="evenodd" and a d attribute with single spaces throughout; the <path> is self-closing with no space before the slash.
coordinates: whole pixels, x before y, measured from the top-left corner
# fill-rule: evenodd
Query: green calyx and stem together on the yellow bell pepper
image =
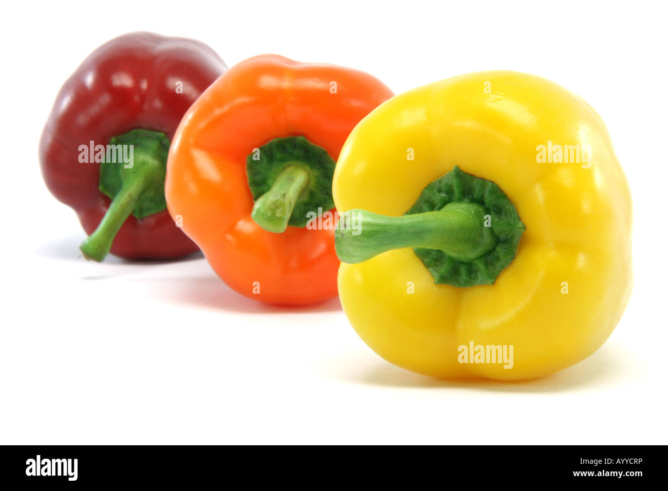
<path id="1" fill-rule="evenodd" d="M 434 283 L 493 285 L 512 262 L 524 224 L 494 182 L 455 167 L 434 180 L 403 216 L 346 212 L 335 246 L 345 263 L 361 263 L 391 249 L 413 247 Z"/>

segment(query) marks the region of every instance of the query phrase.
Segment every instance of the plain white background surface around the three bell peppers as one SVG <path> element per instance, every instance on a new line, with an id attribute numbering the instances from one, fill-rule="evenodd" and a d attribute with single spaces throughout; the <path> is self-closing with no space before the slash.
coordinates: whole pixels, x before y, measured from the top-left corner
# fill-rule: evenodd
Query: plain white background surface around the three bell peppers
<path id="1" fill-rule="evenodd" d="M 0 444 L 667 443 L 665 5 L 54 2 L 3 6 Z M 589 359 L 524 383 L 440 381 L 377 357 L 337 300 L 259 305 L 201 256 L 98 265 L 45 188 L 59 86 L 128 31 L 376 75 L 396 93 L 468 71 L 553 79 L 607 122 L 634 197 L 635 289 Z"/>

